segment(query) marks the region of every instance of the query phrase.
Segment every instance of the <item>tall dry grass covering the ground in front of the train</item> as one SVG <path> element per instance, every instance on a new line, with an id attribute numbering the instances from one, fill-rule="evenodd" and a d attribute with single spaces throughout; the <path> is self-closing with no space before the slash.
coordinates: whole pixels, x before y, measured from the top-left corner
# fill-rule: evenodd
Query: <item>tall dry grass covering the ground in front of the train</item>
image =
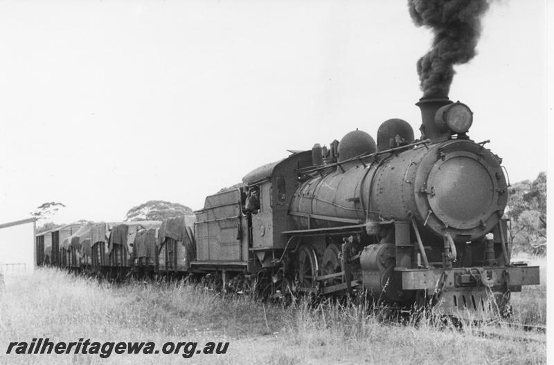
<path id="1" fill-rule="evenodd" d="M 543 277 L 546 278 L 546 275 Z M 546 323 L 546 280 L 513 294 L 512 321 Z M 546 344 L 483 338 L 423 321 L 400 326 L 361 306 L 282 308 L 184 283 L 111 286 L 59 270 L 6 283 L 0 364 L 543 364 Z M 512 328 L 504 333 L 532 336 Z M 229 341 L 225 355 L 6 355 L 10 341 Z"/>

